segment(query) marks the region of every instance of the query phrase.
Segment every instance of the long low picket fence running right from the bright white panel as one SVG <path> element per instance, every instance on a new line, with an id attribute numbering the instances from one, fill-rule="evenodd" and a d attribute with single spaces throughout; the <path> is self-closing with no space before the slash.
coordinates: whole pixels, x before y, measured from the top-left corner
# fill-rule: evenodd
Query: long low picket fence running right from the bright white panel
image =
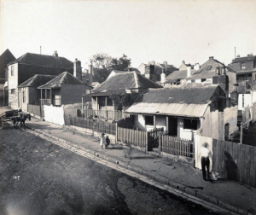
<path id="1" fill-rule="evenodd" d="M 116 134 L 116 123 L 109 123 L 101 120 L 85 119 L 64 114 L 65 125 L 73 125 L 81 128 L 90 129 L 97 132 L 107 133 L 111 135 Z"/>

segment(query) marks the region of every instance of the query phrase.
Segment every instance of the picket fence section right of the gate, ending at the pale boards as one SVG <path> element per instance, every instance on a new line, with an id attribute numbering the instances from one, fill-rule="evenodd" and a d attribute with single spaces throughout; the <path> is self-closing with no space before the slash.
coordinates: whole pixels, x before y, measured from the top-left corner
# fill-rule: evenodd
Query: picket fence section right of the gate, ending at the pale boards
<path id="1" fill-rule="evenodd" d="M 162 152 L 194 158 L 194 142 L 167 135 L 162 136 L 161 140 Z"/>

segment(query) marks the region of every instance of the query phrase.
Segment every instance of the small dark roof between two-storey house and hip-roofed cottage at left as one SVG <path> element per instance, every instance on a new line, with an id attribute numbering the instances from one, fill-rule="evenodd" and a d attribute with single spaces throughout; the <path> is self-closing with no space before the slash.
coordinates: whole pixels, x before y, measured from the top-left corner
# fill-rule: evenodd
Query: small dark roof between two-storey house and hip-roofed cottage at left
<path id="1" fill-rule="evenodd" d="M 46 84 L 51 79 L 55 78 L 55 75 L 42 75 L 36 74 L 32 78 L 27 79 L 25 82 L 20 84 L 18 87 L 38 87 Z"/>

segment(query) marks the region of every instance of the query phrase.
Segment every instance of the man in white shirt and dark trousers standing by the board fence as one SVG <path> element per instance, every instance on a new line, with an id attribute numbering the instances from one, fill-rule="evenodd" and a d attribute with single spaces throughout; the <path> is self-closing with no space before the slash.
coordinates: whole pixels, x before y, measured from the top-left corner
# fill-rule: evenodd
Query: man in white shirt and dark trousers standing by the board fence
<path id="1" fill-rule="evenodd" d="M 203 179 L 205 181 L 207 181 L 207 178 L 210 178 L 210 156 L 212 156 L 211 151 L 209 150 L 209 148 L 207 148 L 208 143 L 204 142 L 202 144 L 202 148 L 201 148 L 201 171 L 202 171 L 202 176 Z M 206 172 L 206 167 L 207 167 L 207 172 Z M 206 173 L 207 173 L 207 177 L 206 177 Z"/>

